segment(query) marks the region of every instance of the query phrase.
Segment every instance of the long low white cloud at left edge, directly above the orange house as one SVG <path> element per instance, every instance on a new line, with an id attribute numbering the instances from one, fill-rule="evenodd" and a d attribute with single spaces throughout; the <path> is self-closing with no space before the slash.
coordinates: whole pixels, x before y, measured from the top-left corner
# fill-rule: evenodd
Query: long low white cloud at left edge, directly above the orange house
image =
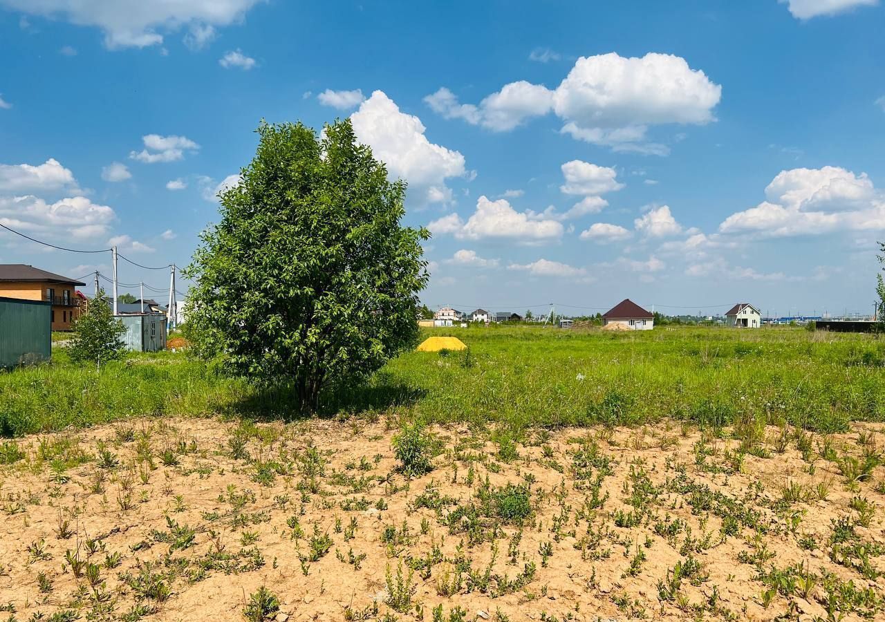
<path id="1" fill-rule="evenodd" d="M 116 214 L 107 205 L 73 196 L 46 203 L 36 196 L 0 197 L 0 222 L 7 227 L 49 237 L 95 238 L 107 233 Z"/>

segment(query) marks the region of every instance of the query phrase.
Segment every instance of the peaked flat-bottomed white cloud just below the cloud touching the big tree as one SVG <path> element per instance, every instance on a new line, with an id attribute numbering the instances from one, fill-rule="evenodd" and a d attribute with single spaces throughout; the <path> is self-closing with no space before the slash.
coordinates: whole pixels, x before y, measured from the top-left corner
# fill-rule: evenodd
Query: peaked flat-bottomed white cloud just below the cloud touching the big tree
<path id="1" fill-rule="evenodd" d="M 532 219 L 531 212 L 516 211 L 506 199 L 491 201 L 481 196 L 476 211 L 466 222 L 450 214 L 427 226 L 434 233 L 452 233 L 463 240 L 509 238 L 537 243 L 562 237 L 563 227 L 556 220 Z"/>

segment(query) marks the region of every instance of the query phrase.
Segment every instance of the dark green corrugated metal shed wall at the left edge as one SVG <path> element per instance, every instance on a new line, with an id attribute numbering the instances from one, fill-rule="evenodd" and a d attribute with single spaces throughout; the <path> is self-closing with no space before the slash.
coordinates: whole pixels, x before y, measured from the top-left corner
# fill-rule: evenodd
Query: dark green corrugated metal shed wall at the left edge
<path id="1" fill-rule="evenodd" d="M 51 311 L 50 303 L 0 298 L 0 367 L 50 359 Z"/>

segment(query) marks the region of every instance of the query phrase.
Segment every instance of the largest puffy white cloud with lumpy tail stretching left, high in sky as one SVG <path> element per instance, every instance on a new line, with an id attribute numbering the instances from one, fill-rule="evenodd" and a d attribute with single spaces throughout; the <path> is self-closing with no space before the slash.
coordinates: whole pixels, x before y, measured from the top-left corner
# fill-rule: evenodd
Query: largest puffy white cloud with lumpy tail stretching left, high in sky
<path id="1" fill-rule="evenodd" d="M 464 119 L 497 131 L 554 111 L 562 132 L 616 151 L 666 155 L 665 145 L 650 142 L 650 126 L 703 125 L 722 88 L 684 58 L 649 53 L 624 58 L 615 53 L 581 57 L 555 90 L 518 81 L 507 84 L 476 106 L 459 104 L 447 88 L 425 97 L 448 119 Z"/>

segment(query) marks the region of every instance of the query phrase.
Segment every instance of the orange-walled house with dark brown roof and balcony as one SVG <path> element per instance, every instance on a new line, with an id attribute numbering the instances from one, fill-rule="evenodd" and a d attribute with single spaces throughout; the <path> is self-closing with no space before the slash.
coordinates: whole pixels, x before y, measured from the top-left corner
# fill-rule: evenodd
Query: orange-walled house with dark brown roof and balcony
<path id="1" fill-rule="evenodd" d="M 0 296 L 52 303 L 52 330 L 71 330 L 80 311 L 75 295 L 79 280 L 48 273 L 33 265 L 0 264 Z"/>

